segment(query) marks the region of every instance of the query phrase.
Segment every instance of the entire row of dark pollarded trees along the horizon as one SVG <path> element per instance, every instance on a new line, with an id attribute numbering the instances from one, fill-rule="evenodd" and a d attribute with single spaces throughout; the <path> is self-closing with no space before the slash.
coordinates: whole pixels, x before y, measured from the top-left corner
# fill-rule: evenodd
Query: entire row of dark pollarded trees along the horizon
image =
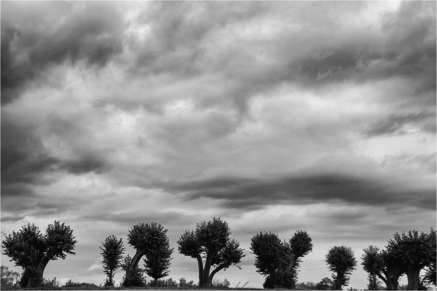
<path id="1" fill-rule="evenodd" d="M 123 259 L 125 247 L 122 240 L 108 236 L 100 249 L 103 267 L 108 279 L 105 285 L 113 285 L 115 271 L 122 267 L 125 271 L 125 286 L 142 285 L 142 273 L 155 279 L 155 282 L 168 274 L 171 254 L 167 229 L 158 223 L 139 223 L 129 230 L 128 243 L 134 247 L 135 255 Z M 177 241 L 179 253 L 197 259 L 199 286 L 211 287 L 214 275 L 223 269 L 241 262 L 245 257 L 243 249 L 236 240 L 230 238 L 230 229 L 225 221 L 213 218 L 198 223 L 195 230 L 186 231 Z M 74 254 L 76 244 L 73 231 L 64 223 L 55 221 L 42 234 L 35 225 L 23 226 L 18 232 L 2 241 L 3 253 L 23 268 L 22 287 L 38 287 L 42 284 L 44 268 L 50 260 L 65 259 L 66 254 Z M 297 282 L 298 267 L 302 257 L 312 251 L 312 239 L 302 230 L 295 232 L 288 241 L 282 241 L 275 233 L 260 232 L 253 236 L 250 250 L 255 255 L 257 272 L 266 279 L 264 288 L 294 288 Z M 144 257 L 144 267 L 139 267 Z M 375 246 L 364 249 L 362 257 L 364 270 L 372 280 L 381 278 L 388 290 L 397 290 L 397 282 L 402 274 L 407 274 L 408 290 L 419 287 L 420 270 L 428 267 L 429 281 L 436 282 L 436 232 L 395 234 L 388 241 L 386 250 Z M 334 246 L 326 255 L 329 270 L 333 271 L 334 290 L 347 286 L 349 276 L 356 270 L 357 261 L 352 250 L 346 246 Z"/>

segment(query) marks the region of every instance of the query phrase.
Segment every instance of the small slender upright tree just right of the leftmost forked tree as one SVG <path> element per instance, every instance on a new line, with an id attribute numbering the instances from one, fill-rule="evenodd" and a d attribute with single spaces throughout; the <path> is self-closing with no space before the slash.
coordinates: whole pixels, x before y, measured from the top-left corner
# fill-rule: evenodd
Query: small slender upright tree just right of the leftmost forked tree
<path id="1" fill-rule="evenodd" d="M 121 267 L 121 259 L 125 253 L 122 239 L 118 240 L 115 236 L 108 236 L 100 246 L 103 257 L 103 271 L 108 276 L 104 286 L 114 286 L 115 270 Z"/>

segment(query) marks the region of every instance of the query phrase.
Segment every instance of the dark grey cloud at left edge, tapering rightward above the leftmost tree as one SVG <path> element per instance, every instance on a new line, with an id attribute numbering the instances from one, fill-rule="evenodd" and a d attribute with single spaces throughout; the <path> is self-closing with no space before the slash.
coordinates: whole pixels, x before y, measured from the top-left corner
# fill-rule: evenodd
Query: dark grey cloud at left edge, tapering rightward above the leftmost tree
<path id="1" fill-rule="evenodd" d="M 7 196 L 33 196 L 32 185 L 49 184 L 45 174 L 66 170 L 73 174 L 102 172 L 110 168 L 97 153 L 80 153 L 65 160 L 55 157 L 42 144 L 36 127 L 1 115 L 1 192 Z"/>

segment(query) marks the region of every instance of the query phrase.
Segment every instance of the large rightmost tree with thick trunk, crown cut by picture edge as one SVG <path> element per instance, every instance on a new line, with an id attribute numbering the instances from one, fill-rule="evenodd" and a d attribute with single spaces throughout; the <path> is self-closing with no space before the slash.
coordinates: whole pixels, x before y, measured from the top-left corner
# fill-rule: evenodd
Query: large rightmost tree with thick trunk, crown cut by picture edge
<path id="1" fill-rule="evenodd" d="M 408 233 L 395 233 L 388 241 L 385 262 L 395 266 L 408 277 L 408 290 L 418 290 L 420 270 L 436 260 L 436 231 L 429 233 L 410 230 Z"/>

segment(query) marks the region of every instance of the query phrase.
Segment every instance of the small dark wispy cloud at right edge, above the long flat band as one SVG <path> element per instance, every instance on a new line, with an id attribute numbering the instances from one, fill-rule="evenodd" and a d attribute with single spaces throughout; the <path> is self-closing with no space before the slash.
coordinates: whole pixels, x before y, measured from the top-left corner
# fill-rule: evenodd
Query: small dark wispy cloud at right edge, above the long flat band
<path id="1" fill-rule="evenodd" d="M 366 137 L 380 135 L 406 134 L 403 130 L 405 125 L 413 125 L 420 130 L 435 134 L 436 113 L 420 112 L 409 114 L 391 114 L 387 119 L 380 120 L 363 132 Z"/>

